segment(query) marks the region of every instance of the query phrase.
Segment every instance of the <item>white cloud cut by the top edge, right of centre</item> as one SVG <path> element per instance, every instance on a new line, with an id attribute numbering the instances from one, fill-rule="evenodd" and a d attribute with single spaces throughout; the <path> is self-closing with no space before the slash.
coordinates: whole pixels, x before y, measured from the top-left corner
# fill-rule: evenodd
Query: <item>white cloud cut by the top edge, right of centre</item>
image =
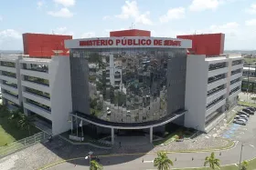
<path id="1" fill-rule="evenodd" d="M 208 9 L 215 10 L 221 4 L 221 0 L 193 0 L 192 4 L 189 5 L 190 11 L 205 11 Z"/>

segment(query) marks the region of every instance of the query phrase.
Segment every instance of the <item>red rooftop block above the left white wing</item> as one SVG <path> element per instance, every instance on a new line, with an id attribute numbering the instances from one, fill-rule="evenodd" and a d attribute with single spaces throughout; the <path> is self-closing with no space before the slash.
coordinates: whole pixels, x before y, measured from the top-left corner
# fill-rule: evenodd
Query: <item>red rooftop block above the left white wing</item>
<path id="1" fill-rule="evenodd" d="M 52 55 L 69 56 L 69 49 L 64 41 L 72 39 L 71 35 L 44 35 L 25 33 L 23 36 L 24 55 L 38 58 L 50 58 Z"/>

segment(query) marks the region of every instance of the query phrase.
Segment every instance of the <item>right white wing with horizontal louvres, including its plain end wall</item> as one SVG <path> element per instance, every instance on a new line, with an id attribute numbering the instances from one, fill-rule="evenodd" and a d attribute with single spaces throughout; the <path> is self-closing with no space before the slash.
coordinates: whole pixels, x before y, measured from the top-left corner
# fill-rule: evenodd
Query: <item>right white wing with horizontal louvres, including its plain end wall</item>
<path id="1" fill-rule="evenodd" d="M 223 113 L 237 105 L 242 68 L 241 55 L 187 56 L 185 126 L 208 132 L 223 120 Z"/>

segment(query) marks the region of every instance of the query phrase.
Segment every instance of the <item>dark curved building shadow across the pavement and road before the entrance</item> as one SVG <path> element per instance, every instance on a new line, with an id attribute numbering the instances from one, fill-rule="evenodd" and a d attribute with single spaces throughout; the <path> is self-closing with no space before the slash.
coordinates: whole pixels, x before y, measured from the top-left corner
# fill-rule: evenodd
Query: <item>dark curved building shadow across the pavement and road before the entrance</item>
<path id="1" fill-rule="evenodd" d="M 48 141 L 42 145 L 61 159 L 67 160 L 68 163 L 74 165 L 89 165 L 89 159 L 85 159 L 85 157 L 88 156 L 90 152 L 93 152 L 92 157 L 98 156 L 101 165 L 104 166 L 120 165 L 135 159 L 143 159 L 146 153 L 154 149 L 152 144 L 127 145 L 127 143 L 121 146 L 117 143 L 113 145 L 111 149 L 101 149 L 91 145 L 72 145 L 59 136 L 53 137 L 51 142 Z M 80 159 L 69 160 L 73 158 Z"/>

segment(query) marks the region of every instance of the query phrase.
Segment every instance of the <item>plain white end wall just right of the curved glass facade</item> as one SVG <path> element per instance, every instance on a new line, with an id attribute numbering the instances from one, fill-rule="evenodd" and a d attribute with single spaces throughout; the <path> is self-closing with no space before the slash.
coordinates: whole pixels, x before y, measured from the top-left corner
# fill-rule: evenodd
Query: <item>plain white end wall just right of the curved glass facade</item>
<path id="1" fill-rule="evenodd" d="M 187 55 L 185 126 L 204 131 L 208 87 L 205 55 Z"/>

